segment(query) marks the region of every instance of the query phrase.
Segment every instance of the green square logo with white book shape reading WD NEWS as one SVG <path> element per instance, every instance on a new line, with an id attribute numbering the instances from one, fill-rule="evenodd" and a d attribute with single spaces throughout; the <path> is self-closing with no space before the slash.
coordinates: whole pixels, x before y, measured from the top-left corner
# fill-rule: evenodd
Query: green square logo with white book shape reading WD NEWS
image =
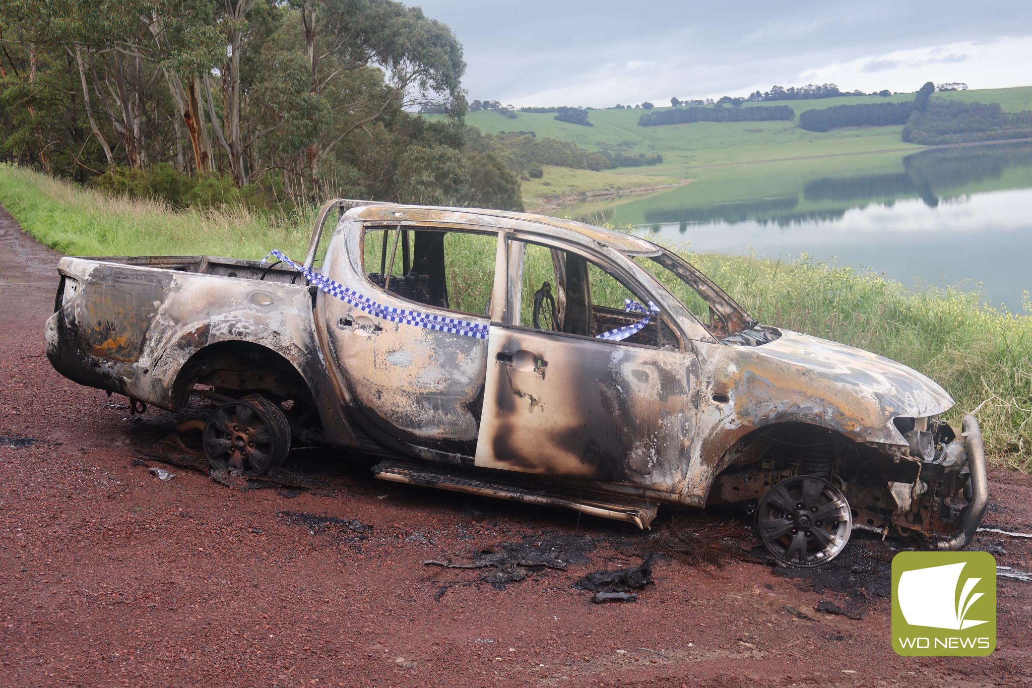
<path id="1" fill-rule="evenodd" d="M 985 657 L 996 649 L 996 559 L 988 552 L 893 558 L 893 650 L 904 657 Z"/>

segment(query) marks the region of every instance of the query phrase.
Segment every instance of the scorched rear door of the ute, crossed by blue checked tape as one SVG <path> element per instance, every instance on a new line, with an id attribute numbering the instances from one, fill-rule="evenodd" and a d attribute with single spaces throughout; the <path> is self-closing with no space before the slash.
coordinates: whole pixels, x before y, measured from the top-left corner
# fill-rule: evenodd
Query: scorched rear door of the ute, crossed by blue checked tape
<path id="1" fill-rule="evenodd" d="M 357 301 L 324 302 L 330 350 L 356 422 L 374 436 L 473 454 L 487 342 L 457 333 L 465 328 L 425 324 L 437 318 L 487 326 L 497 234 L 377 226 L 356 227 L 346 238 L 348 250 L 338 255 L 350 261 L 330 264 L 329 275 Z M 457 272 L 457 261 L 471 255 L 485 269 L 453 282 L 460 289 L 450 293 L 445 268 Z M 399 317 L 402 310 L 409 315 Z"/>

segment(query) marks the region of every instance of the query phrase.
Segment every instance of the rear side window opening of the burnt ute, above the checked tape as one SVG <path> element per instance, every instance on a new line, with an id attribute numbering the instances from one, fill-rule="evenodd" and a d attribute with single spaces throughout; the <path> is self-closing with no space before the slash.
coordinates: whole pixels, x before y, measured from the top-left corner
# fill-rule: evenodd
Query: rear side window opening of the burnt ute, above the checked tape
<path id="1" fill-rule="evenodd" d="M 363 269 L 374 285 L 437 308 L 484 316 L 494 283 L 496 234 L 366 227 Z"/>

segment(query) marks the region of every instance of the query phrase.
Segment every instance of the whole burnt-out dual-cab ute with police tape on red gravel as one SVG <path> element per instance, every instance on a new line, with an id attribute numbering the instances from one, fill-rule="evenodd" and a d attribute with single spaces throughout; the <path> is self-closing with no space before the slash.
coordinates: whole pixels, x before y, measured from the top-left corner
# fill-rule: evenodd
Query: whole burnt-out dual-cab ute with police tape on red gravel
<path id="1" fill-rule="evenodd" d="M 978 425 L 941 419 L 941 387 L 756 322 L 630 234 L 335 200 L 303 257 L 59 270 L 54 367 L 133 408 L 205 394 L 216 468 L 256 476 L 322 443 L 380 457 L 384 480 L 643 528 L 659 504 L 751 502 L 794 566 L 829 561 L 853 529 L 961 549 L 986 509 Z"/>

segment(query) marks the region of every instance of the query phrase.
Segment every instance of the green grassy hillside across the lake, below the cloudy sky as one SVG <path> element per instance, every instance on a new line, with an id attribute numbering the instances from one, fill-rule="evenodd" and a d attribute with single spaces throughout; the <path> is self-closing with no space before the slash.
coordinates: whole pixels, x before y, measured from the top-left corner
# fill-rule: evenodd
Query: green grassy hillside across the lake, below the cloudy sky
<path id="1" fill-rule="evenodd" d="M 998 102 L 1004 111 L 1032 109 L 1032 87 L 986 89 L 937 93 L 933 98 L 967 102 Z M 638 118 L 645 110 L 590 110 L 593 126 L 557 122 L 552 113 L 517 112 L 515 119 L 496 110 L 478 110 L 466 116 L 466 123 L 483 132 L 533 131 L 541 138 L 551 136 L 574 141 L 586 151 L 612 153 L 662 154 L 664 163 L 651 167 L 624 167 L 608 170 L 612 174 L 659 175 L 687 178 L 694 167 L 735 163 L 791 160 L 817 156 L 841 156 L 877 151 L 917 151 L 923 146 L 904 143 L 902 126 L 856 127 L 826 133 L 804 131 L 798 125 L 800 112 L 833 105 L 869 102 L 902 102 L 913 94 L 823 98 L 817 100 L 781 100 L 750 103 L 747 107 L 788 105 L 796 112 L 795 122 L 740 122 L 639 127 Z M 656 108 L 670 109 L 670 108 Z M 439 117 L 439 116 L 428 116 Z"/>

